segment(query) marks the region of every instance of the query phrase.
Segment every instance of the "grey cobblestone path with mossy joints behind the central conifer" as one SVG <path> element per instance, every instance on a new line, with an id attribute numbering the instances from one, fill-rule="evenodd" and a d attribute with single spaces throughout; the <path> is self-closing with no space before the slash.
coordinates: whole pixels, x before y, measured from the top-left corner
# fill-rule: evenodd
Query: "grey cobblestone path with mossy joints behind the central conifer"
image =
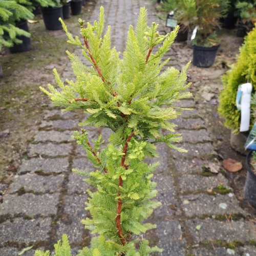
<path id="1" fill-rule="evenodd" d="M 159 22 L 153 4 L 142 0 L 99 0 L 90 16 L 81 18 L 93 22 L 101 5 L 106 24 L 112 26 L 112 44 L 119 51 L 124 50 L 127 28 L 135 25 L 140 6 L 147 7 L 150 23 Z M 78 34 L 78 30 L 72 32 Z M 178 44 L 166 57 L 172 59 L 170 65 L 181 69 L 188 56 L 179 49 Z M 81 55 L 79 49 L 75 53 Z M 66 65 L 62 77 L 71 79 L 71 65 Z M 255 223 L 248 220 L 223 174 L 207 172 L 207 166 L 218 165 L 219 160 L 195 100 L 177 105 L 193 108 L 175 121 L 178 132 L 184 134 L 182 146 L 189 152 L 180 154 L 158 146 L 160 167 L 154 179 L 162 206 L 151 217 L 157 228 L 144 237 L 164 249 L 161 255 L 256 255 Z M 0 255 L 17 255 L 31 245 L 33 249 L 25 256 L 33 255 L 36 248 L 52 249 L 64 232 L 74 253 L 90 244 L 90 233 L 80 223 L 88 216 L 84 202 L 89 186 L 71 172 L 75 167 L 93 167 L 70 137 L 83 118 L 80 112 L 63 113 L 49 103 L 27 157 L 0 205 Z M 109 135 L 102 129 L 89 128 L 89 133 L 91 138 Z"/>

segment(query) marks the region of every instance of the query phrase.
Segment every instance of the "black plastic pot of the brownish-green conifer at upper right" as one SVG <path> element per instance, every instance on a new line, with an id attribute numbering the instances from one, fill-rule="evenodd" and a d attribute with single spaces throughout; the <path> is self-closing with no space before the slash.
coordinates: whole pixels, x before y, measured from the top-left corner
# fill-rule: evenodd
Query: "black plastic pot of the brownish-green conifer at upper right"
<path id="1" fill-rule="evenodd" d="M 208 68 L 214 64 L 220 46 L 193 46 L 193 64 L 197 67 Z"/>

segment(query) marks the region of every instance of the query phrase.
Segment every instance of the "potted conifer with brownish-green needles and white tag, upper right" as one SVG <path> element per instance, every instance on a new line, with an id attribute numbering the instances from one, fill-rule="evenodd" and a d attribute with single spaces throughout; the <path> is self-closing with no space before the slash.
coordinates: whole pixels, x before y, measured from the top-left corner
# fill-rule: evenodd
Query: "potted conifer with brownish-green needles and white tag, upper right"
<path id="1" fill-rule="evenodd" d="M 194 0 L 196 2 L 197 26 L 193 40 L 193 64 L 210 67 L 215 61 L 220 41 L 215 32 L 220 27 L 220 18 L 227 12 L 228 0 Z"/>

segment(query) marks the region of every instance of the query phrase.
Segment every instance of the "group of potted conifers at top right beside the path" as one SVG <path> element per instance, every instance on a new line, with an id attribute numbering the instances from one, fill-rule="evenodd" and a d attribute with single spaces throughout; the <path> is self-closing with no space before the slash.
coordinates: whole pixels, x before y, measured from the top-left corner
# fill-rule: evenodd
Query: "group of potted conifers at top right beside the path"
<path id="1" fill-rule="evenodd" d="M 255 2 L 248 0 L 250 1 Z M 233 11 L 231 7 L 237 8 L 237 15 L 241 17 L 239 22 L 243 29 L 246 28 L 244 33 L 250 31 L 256 17 L 256 7 L 252 3 L 230 0 L 167 0 L 162 2 L 160 9 L 173 11 L 174 19 L 182 28 L 177 39 L 187 39 L 188 45 L 193 45 L 193 64 L 210 67 L 220 46 L 216 28 L 221 27 L 221 20 L 230 16 L 230 11 Z"/>

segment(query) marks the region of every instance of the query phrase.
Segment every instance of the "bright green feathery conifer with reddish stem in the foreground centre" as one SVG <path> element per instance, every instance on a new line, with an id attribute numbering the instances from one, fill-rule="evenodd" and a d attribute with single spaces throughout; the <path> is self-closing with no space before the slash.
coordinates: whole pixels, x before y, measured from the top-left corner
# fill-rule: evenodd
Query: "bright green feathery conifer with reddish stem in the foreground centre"
<path id="1" fill-rule="evenodd" d="M 88 191 L 90 198 L 86 209 L 92 218 L 82 223 L 92 233 L 100 235 L 79 255 L 149 255 L 161 251 L 158 247 L 150 248 L 146 240 L 135 247 L 139 241 L 132 239 L 132 234 L 156 227 L 144 220 L 160 205 L 152 200 L 157 190 L 151 180 L 158 164 L 146 164 L 144 159 L 158 156 L 155 146 L 158 142 L 186 152 L 174 144 L 181 140 L 181 135 L 174 134 L 176 125 L 171 121 L 182 112 L 180 108 L 175 109 L 173 103 L 191 97 L 191 93 L 186 92 L 190 85 L 186 84 L 189 63 L 182 72 L 172 67 L 161 73 L 169 61 L 162 57 L 173 44 L 179 27 L 167 35 L 159 35 L 158 25 L 152 23 L 147 27 L 146 14 L 146 9 L 141 8 L 136 29 L 130 26 L 122 59 L 119 52 L 111 48 L 110 26 L 102 36 L 103 7 L 98 22 L 93 25 L 87 23 L 85 28 L 84 21 L 79 19 L 83 44 L 60 19 L 68 42 L 79 46 L 93 67 L 86 67 L 78 56 L 67 51 L 77 80 L 63 82 L 54 69 L 59 89 L 51 84 L 48 90 L 40 87 L 64 111 L 81 109 L 89 114 L 79 125 L 113 131 L 105 147 L 101 135 L 89 141 L 86 130 L 74 134 L 96 168 L 91 172 L 74 169 L 97 188 L 95 193 Z M 157 45 L 160 46 L 154 52 Z M 163 135 L 162 130 L 169 133 Z M 66 240 L 64 242 L 67 244 Z"/>

